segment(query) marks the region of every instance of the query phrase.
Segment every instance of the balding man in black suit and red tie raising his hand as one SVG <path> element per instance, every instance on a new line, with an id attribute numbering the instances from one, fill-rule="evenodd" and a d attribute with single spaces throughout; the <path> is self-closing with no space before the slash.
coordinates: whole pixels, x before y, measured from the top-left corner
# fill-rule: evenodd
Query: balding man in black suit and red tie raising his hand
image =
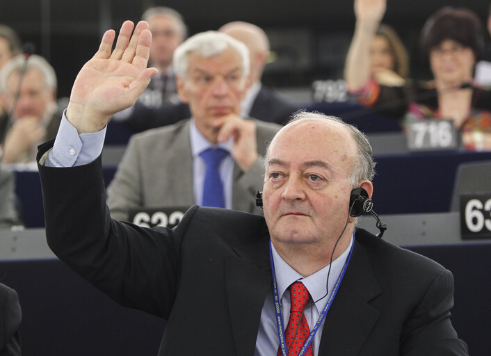
<path id="1" fill-rule="evenodd" d="M 194 206 L 175 229 L 111 219 L 85 145 L 154 74 L 145 24 L 129 32 L 113 54 L 106 33 L 74 84 L 67 118 L 83 159 L 50 167 L 52 142 L 38 158 L 49 246 L 121 305 L 165 318 L 159 355 L 467 355 L 451 272 L 355 229 L 374 163 L 363 133 L 337 118 L 298 113 L 273 138 L 264 217 Z"/>

